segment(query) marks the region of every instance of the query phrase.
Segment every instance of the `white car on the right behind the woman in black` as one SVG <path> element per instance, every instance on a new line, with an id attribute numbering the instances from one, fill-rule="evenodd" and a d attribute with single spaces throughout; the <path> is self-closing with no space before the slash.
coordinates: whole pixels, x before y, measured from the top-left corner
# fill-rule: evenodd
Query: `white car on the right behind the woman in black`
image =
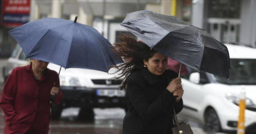
<path id="1" fill-rule="evenodd" d="M 188 115 L 212 132 L 236 131 L 239 119 L 239 94 L 246 91 L 246 134 L 256 133 L 256 49 L 229 45 L 229 79 L 204 71 L 189 70 L 183 77 L 184 108 Z"/>

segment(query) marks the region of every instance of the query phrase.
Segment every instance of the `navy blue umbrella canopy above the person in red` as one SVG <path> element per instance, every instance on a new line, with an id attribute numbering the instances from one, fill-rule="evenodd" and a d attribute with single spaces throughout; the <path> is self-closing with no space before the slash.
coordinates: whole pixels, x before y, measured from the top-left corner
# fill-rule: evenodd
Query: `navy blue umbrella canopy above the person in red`
<path id="1" fill-rule="evenodd" d="M 39 19 L 10 30 L 9 34 L 21 45 L 26 58 L 64 68 L 108 71 L 109 66 L 121 62 L 111 52 L 106 38 L 93 27 L 76 23 L 76 19 Z"/>

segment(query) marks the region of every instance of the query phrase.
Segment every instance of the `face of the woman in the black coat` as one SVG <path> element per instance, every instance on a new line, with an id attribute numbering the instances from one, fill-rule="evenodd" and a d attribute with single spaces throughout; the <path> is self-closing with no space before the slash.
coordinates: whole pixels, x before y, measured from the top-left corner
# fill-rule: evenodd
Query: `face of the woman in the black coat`
<path id="1" fill-rule="evenodd" d="M 155 75 L 160 76 L 165 72 L 166 66 L 167 66 L 167 56 L 155 53 L 152 58 L 149 58 L 149 60 L 144 60 L 144 65 L 147 66 L 147 69 Z"/>

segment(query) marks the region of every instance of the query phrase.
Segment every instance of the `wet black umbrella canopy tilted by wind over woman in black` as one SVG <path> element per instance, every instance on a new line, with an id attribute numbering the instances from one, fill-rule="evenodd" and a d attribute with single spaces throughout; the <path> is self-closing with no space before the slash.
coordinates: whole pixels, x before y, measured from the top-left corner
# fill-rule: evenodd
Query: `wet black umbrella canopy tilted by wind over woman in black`
<path id="1" fill-rule="evenodd" d="M 227 47 L 199 27 L 148 10 L 127 14 L 121 25 L 149 47 L 184 65 L 228 78 Z"/>

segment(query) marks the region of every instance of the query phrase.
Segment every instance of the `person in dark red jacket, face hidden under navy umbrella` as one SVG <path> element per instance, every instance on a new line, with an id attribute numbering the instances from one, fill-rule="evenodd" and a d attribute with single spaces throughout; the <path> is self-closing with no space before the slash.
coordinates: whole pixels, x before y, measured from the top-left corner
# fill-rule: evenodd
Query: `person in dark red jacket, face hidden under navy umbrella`
<path id="1" fill-rule="evenodd" d="M 47 66 L 47 62 L 30 59 L 29 65 L 13 69 L 8 76 L 0 99 L 6 134 L 48 133 L 50 102 L 60 104 L 62 93 L 57 72 Z"/>

